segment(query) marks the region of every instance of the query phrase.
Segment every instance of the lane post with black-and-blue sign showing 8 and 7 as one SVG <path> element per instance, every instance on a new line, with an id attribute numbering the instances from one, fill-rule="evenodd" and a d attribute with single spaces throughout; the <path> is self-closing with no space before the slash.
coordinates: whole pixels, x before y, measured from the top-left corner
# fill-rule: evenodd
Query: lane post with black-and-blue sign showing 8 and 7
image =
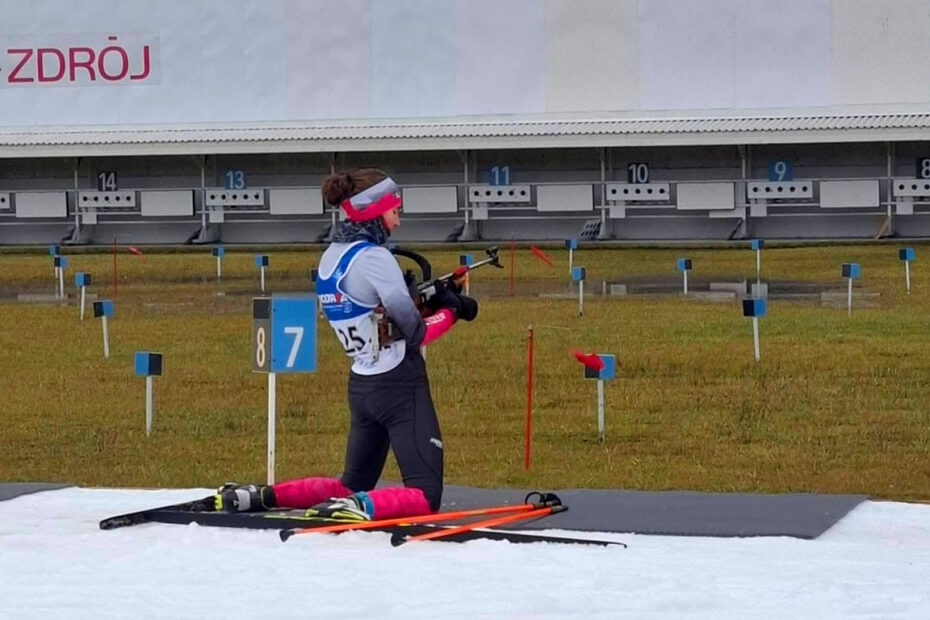
<path id="1" fill-rule="evenodd" d="M 317 297 L 252 298 L 252 372 L 268 374 L 268 484 L 274 484 L 277 373 L 316 371 Z"/>

